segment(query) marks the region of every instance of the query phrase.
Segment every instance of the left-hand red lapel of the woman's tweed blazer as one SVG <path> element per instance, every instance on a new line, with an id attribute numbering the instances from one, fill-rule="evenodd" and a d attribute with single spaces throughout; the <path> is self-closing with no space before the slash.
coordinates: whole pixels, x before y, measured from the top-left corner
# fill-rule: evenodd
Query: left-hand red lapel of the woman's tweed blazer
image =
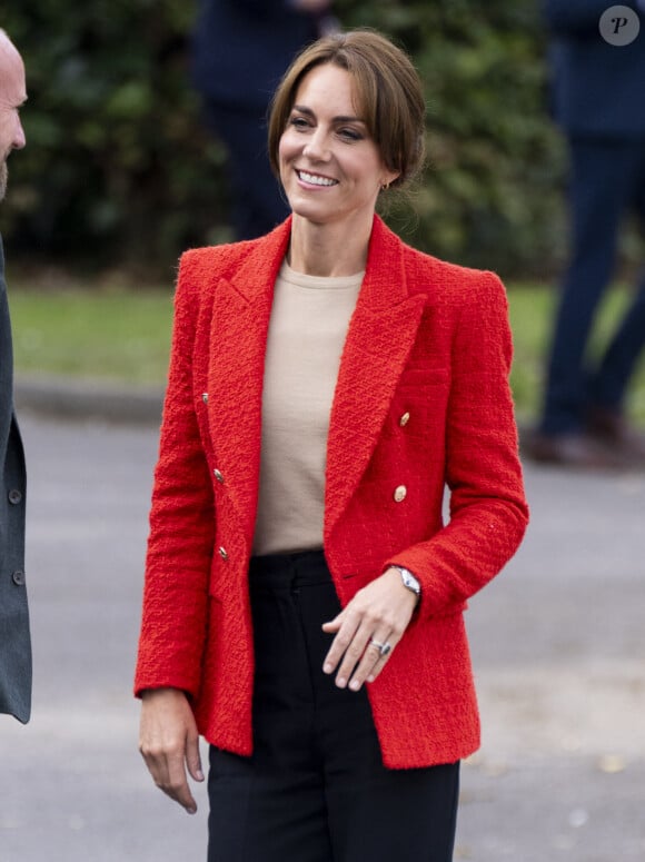
<path id="1" fill-rule="evenodd" d="M 230 279 L 214 285 L 208 400 L 215 457 L 249 545 L 255 529 L 265 351 L 274 285 L 290 220 L 250 245 Z"/>

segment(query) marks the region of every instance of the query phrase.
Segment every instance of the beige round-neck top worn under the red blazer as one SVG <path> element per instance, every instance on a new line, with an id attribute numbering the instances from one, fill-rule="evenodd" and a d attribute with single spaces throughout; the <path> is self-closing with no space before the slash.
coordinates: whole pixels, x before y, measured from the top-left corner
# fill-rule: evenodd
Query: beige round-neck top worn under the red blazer
<path id="1" fill-rule="evenodd" d="M 276 280 L 262 389 L 254 554 L 322 546 L 329 414 L 363 273 Z"/>

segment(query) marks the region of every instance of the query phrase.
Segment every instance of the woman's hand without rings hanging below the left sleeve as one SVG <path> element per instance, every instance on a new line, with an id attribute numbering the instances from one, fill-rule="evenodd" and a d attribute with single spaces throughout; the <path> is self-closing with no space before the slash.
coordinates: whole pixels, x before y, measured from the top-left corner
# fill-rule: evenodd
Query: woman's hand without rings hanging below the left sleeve
<path id="1" fill-rule="evenodd" d="M 178 688 L 150 688 L 141 696 L 139 751 L 155 784 L 195 814 L 186 766 L 195 781 L 204 781 L 199 734 L 192 710 Z"/>

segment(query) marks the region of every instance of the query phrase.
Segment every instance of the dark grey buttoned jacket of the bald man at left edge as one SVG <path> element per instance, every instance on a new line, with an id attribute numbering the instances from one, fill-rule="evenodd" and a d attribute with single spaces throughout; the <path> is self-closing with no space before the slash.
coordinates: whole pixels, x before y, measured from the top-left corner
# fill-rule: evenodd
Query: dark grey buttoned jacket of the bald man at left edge
<path id="1" fill-rule="evenodd" d="M 24 587 L 26 473 L 13 413 L 13 359 L 0 238 L 0 713 L 28 722 L 31 642 Z"/>

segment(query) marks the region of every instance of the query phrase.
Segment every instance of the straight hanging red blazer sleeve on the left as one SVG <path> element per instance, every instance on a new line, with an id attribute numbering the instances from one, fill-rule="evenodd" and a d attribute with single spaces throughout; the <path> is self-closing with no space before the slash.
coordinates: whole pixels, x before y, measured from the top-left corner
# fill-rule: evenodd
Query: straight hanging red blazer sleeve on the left
<path id="1" fill-rule="evenodd" d="M 192 356 L 199 280 L 182 256 L 155 470 L 135 691 L 197 695 L 215 536 L 212 485 L 197 424 Z"/>

